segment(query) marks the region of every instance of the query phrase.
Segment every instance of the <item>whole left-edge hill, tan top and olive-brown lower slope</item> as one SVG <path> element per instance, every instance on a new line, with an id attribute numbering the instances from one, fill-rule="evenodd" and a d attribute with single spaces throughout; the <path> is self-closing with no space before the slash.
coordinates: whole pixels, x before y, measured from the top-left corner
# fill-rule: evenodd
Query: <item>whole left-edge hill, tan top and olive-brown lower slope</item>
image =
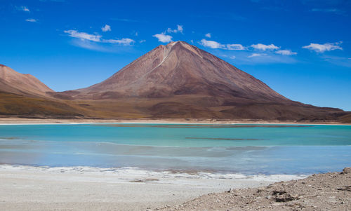
<path id="1" fill-rule="evenodd" d="M 53 90 L 30 74 L 0 64 L 0 116 L 75 118 L 74 105 L 48 96 Z"/>

